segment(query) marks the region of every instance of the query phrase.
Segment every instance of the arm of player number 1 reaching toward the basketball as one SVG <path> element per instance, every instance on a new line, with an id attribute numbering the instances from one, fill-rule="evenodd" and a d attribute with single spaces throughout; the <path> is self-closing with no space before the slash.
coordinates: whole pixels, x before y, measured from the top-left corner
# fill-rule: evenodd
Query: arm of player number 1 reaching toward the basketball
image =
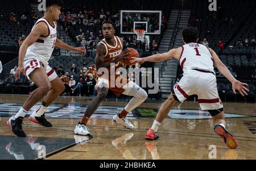
<path id="1" fill-rule="evenodd" d="M 168 59 L 176 59 L 177 52 L 179 51 L 178 49 L 171 49 L 169 52 L 166 53 L 158 53 L 152 56 L 144 57 L 144 58 L 135 58 L 133 57 L 134 60 L 131 61 L 131 64 L 136 64 L 136 63 L 141 63 L 143 64 L 144 62 L 162 62 L 166 61 Z"/>

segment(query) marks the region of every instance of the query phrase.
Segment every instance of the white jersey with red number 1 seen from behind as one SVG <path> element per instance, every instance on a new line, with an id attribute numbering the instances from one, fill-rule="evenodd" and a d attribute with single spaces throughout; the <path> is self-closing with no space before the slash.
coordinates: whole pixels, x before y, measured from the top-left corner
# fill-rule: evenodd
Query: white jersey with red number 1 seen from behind
<path id="1" fill-rule="evenodd" d="M 214 72 L 212 54 L 205 45 L 189 43 L 183 45 L 182 48 L 180 66 L 184 73 L 190 69 Z"/>

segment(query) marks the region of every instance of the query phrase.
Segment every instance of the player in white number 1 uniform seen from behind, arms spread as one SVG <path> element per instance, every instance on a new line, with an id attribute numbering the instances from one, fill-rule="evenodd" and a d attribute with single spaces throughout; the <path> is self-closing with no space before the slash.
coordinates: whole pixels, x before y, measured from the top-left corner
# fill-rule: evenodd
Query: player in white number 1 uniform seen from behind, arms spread
<path id="1" fill-rule="evenodd" d="M 202 110 L 208 110 L 214 120 L 214 131 L 224 139 L 229 148 L 237 147 L 236 138 L 226 131 L 226 121 L 222 102 L 218 96 L 216 76 L 213 65 L 226 77 L 233 85 L 233 91 L 236 90 L 241 95 L 247 95 L 245 86 L 247 84 L 237 81 L 232 76 L 228 68 L 220 61 L 216 52 L 212 49 L 198 44 L 199 34 L 197 28 L 188 27 L 183 30 L 184 45 L 177 49 L 171 49 L 167 53 L 156 54 L 142 59 L 134 59 L 133 63 L 143 62 L 161 62 L 168 59 L 177 59 L 180 61 L 184 74 L 180 82 L 174 86 L 170 97 L 160 107 L 158 115 L 147 132 L 146 140 L 156 140 L 158 127 L 168 115 L 172 106 L 177 102 L 184 102 L 190 95 L 196 94 L 199 98 L 199 104 Z"/>

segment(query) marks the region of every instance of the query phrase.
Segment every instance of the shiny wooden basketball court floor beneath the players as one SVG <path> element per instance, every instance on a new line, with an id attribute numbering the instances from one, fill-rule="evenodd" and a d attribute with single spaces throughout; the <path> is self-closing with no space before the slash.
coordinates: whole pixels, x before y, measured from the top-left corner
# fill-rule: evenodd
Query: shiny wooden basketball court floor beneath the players
<path id="1" fill-rule="evenodd" d="M 74 135 L 73 130 L 90 99 L 59 97 L 51 105 L 51 112 L 47 112 L 47 117 L 55 116 L 48 118 L 53 127 L 40 127 L 26 118 L 23 130 L 27 137 L 18 138 L 6 126 L 6 121 L 26 98 L 0 95 L 0 159 L 256 159 L 255 103 L 224 103 L 229 116 L 228 131 L 238 140 L 237 149 L 228 149 L 214 134 L 212 119 L 200 111 L 196 102 L 176 105 L 174 114 L 168 115 L 159 129 L 160 139 L 146 141 L 144 136 L 154 121 L 152 111 L 157 111 L 161 102 L 145 102 L 137 110 L 143 111 L 141 115 L 130 114 L 135 126 L 130 131 L 110 119 L 113 116 L 110 114 L 127 102 L 106 100 L 88 124 L 93 135 L 88 140 Z M 147 111 L 152 115 L 144 116 Z"/>

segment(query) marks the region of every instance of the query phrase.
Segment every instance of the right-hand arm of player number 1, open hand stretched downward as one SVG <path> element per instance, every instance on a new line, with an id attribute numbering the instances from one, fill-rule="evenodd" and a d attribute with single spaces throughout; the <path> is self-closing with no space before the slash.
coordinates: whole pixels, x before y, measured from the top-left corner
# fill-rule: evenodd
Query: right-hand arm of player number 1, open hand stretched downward
<path id="1" fill-rule="evenodd" d="M 248 85 L 236 80 L 236 78 L 234 78 L 233 75 L 229 72 L 229 69 L 226 67 L 226 65 L 224 65 L 221 62 L 221 60 L 218 58 L 217 53 L 210 48 L 209 50 L 210 50 L 210 53 L 212 53 L 214 65 L 223 74 L 223 76 L 225 76 L 232 83 L 234 94 L 236 94 L 236 90 L 238 90 L 242 96 L 248 95 L 246 91 L 249 91 L 249 90 L 245 87 Z"/>

